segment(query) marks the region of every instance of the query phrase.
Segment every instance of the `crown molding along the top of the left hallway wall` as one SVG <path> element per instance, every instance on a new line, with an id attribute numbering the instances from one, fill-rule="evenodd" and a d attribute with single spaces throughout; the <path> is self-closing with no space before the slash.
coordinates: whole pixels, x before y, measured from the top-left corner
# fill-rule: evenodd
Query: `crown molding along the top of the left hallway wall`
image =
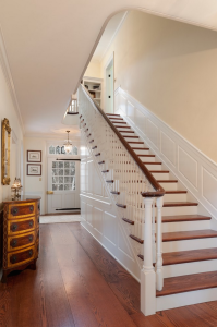
<path id="1" fill-rule="evenodd" d="M 10 92 L 10 95 L 11 95 L 11 98 L 12 98 L 12 101 L 14 105 L 16 116 L 19 118 L 19 122 L 21 124 L 22 132 L 23 132 L 23 134 L 25 134 L 25 129 L 24 129 L 24 124 L 23 124 L 23 120 L 22 120 L 22 116 L 21 116 L 21 110 L 19 107 L 15 86 L 13 83 L 13 78 L 12 78 L 12 74 L 11 74 L 11 70 L 10 70 L 10 65 L 9 65 L 9 60 L 8 60 L 8 56 L 7 56 L 7 51 L 5 51 L 1 26 L 0 26 L 0 65 L 3 71 L 3 75 L 5 78 L 7 85 L 9 87 L 9 92 Z"/>

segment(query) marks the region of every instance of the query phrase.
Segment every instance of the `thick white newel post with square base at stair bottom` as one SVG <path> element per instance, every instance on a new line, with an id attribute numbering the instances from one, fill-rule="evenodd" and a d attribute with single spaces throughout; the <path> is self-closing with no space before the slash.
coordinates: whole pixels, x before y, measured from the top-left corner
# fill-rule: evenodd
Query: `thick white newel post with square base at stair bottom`
<path id="1" fill-rule="evenodd" d="M 141 271 L 141 311 L 145 316 L 156 313 L 156 275 L 153 267 L 153 240 L 152 240 L 152 206 L 153 198 L 145 197 L 144 226 L 144 265 Z"/>

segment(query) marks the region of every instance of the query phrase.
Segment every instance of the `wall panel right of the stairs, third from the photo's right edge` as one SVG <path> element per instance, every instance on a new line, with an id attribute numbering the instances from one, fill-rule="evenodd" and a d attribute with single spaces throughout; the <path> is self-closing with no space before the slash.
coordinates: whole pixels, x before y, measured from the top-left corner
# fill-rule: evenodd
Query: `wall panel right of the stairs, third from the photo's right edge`
<path id="1" fill-rule="evenodd" d="M 167 134 L 160 131 L 161 154 L 176 166 L 176 143 Z"/>

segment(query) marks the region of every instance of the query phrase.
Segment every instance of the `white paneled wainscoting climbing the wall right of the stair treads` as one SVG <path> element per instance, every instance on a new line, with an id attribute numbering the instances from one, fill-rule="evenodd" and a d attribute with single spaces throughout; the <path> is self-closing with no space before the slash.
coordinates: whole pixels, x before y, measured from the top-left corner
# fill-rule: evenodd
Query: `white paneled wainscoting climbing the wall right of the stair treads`
<path id="1" fill-rule="evenodd" d="M 212 215 L 217 230 L 217 165 L 121 87 L 116 89 L 120 113 L 154 154 L 198 201 L 201 214 Z"/>

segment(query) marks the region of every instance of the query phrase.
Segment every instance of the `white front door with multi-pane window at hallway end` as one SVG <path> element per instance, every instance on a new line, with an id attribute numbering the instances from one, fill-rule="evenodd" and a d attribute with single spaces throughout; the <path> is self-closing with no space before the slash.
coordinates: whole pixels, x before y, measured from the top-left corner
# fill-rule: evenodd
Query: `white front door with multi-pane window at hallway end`
<path id="1" fill-rule="evenodd" d="M 80 161 L 48 158 L 48 214 L 80 208 Z"/>

